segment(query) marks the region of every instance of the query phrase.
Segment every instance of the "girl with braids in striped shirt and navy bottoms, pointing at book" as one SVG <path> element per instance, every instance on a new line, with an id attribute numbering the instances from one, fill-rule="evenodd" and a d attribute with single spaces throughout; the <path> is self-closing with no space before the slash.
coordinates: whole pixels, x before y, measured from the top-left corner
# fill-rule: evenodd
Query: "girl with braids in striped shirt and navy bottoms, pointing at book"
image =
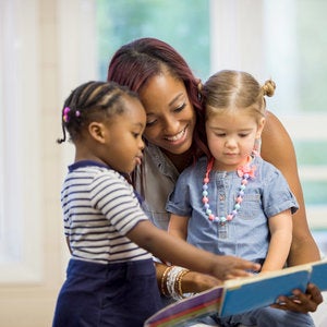
<path id="1" fill-rule="evenodd" d="M 114 83 L 85 83 L 64 102 L 58 142 L 68 132 L 75 159 L 61 192 L 71 259 L 56 327 L 143 326 L 161 308 L 150 253 L 220 279 L 259 268 L 196 249 L 148 221 L 126 180 L 142 161 L 145 124 L 137 95 Z"/>

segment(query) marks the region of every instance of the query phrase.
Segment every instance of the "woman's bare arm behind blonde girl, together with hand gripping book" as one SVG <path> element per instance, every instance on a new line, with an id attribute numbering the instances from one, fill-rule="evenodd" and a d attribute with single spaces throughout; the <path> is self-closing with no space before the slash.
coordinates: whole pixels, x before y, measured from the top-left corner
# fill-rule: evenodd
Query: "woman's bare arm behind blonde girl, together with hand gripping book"
<path id="1" fill-rule="evenodd" d="M 308 229 L 302 186 L 298 173 L 296 156 L 292 141 L 275 114 L 267 113 L 266 125 L 262 134 L 262 157 L 275 165 L 287 179 L 291 191 L 299 203 L 299 210 L 293 215 L 292 244 L 288 257 L 288 265 L 295 266 L 320 259 L 319 250 Z M 283 305 L 274 305 L 282 310 L 295 312 L 315 312 L 323 302 L 323 295 L 318 288 L 308 284 L 306 292 L 294 290 L 296 301 L 292 298 L 281 296 Z"/>

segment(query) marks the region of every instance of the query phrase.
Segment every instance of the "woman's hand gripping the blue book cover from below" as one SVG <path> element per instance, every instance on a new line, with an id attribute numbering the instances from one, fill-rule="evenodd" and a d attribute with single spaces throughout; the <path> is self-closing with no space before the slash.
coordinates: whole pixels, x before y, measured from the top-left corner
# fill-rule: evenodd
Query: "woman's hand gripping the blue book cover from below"
<path id="1" fill-rule="evenodd" d="M 308 283 L 305 293 L 302 293 L 300 290 L 294 290 L 293 296 L 279 296 L 278 302 L 281 304 L 274 304 L 271 306 L 281 310 L 308 313 L 317 310 L 318 305 L 323 302 L 323 295 L 315 284 Z"/>

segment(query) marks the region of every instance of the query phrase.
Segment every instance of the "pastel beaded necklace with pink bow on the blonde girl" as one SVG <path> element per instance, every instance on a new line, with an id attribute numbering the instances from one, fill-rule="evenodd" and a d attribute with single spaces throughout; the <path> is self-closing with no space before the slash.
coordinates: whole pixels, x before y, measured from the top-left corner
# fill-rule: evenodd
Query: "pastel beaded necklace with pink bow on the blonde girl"
<path id="1" fill-rule="evenodd" d="M 209 183 L 209 173 L 213 169 L 213 166 L 214 166 L 214 161 L 215 161 L 215 158 L 211 158 L 208 164 L 207 164 L 207 169 L 206 169 L 206 174 L 205 174 L 205 178 L 203 180 L 203 192 L 202 192 L 202 195 L 203 195 L 203 198 L 202 198 L 202 202 L 204 204 L 204 210 L 205 210 L 205 214 L 206 216 L 208 217 L 208 219 L 213 222 L 218 222 L 219 223 L 219 237 L 220 238 L 227 238 L 227 222 L 228 221 L 231 221 L 239 213 L 240 208 L 241 208 L 241 203 L 243 201 L 243 196 L 244 196 L 244 191 L 246 189 L 246 184 L 249 182 L 249 179 L 252 178 L 254 179 L 254 172 L 255 172 L 255 169 L 256 167 L 255 166 L 251 166 L 251 161 L 252 161 L 252 157 L 249 156 L 246 158 L 246 162 L 245 165 L 243 166 L 240 166 L 238 167 L 238 175 L 242 178 L 242 181 L 241 181 L 241 186 L 240 186 L 240 190 L 239 190 L 239 193 L 238 193 L 238 196 L 237 196 L 237 202 L 235 202 L 235 205 L 234 205 L 234 208 L 233 210 L 227 215 L 226 217 L 217 217 L 213 214 L 211 209 L 210 209 L 210 205 L 209 205 L 209 198 L 208 198 L 208 183 Z"/>

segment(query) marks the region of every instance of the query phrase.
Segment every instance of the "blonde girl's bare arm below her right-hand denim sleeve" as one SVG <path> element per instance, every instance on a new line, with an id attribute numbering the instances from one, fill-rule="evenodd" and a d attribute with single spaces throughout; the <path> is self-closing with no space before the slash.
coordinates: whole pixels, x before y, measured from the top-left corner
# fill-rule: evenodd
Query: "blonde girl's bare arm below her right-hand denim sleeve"
<path id="1" fill-rule="evenodd" d="M 270 242 L 262 271 L 282 269 L 292 242 L 292 214 L 284 210 L 268 219 Z"/>

